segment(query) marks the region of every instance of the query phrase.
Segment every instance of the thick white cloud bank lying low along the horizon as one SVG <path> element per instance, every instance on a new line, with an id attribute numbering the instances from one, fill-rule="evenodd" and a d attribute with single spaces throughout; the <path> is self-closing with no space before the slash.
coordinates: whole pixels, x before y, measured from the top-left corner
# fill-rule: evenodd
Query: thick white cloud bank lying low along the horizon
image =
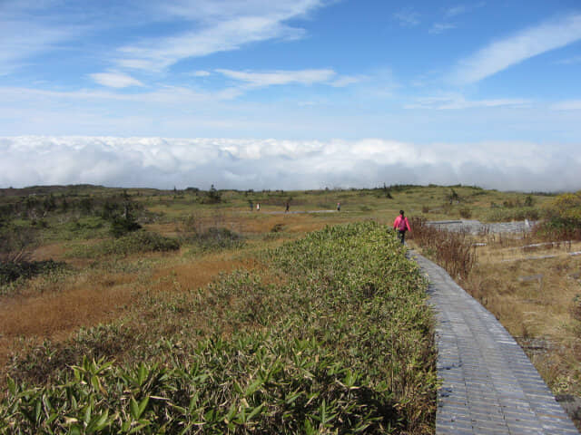
<path id="1" fill-rule="evenodd" d="M 0 138 L 0 186 L 92 183 L 160 189 L 320 189 L 383 184 L 581 189 L 579 151 L 527 142 Z"/>

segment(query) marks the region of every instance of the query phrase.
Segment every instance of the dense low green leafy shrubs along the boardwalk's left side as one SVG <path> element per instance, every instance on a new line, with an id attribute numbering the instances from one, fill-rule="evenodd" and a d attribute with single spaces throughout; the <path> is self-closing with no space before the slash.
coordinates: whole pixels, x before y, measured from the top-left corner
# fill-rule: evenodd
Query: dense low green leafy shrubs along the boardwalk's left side
<path id="1" fill-rule="evenodd" d="M 160 304 L 132 344 L 141 361 L 84 358 L 47 385 L 9 379 L 0 431 L 433 431 L 425 282 L 390 230 L 326 227 L 261 260 L 260 275 L 224 275 L 204 292 L 184 291 L 180 306 Z M 182 329 L 159 333 L 176 312 L 208 319 L 213 332 L 184 317 Z"/>

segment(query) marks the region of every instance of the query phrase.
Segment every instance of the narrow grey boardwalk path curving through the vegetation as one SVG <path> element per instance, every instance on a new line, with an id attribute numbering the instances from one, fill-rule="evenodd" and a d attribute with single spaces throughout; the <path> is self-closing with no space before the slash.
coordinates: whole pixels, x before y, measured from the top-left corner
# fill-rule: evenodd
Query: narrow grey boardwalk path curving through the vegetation
<path id="1" fill-rule="evenodd" d="M 436 435 L 578 434 L 515 339 L 448 273 L 409 256 L 428 275 L 438 324 Z"/>

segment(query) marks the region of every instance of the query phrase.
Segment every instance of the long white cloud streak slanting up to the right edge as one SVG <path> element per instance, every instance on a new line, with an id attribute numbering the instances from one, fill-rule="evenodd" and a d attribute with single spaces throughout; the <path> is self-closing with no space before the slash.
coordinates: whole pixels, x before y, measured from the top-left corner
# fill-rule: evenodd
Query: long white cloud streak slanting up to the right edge
<path id="1" fill-rule="evenodd" d="M 569 14 L 488 44 L 458 63 L 451 80 L 479 82 L 508 67 L 581 39 L 581 14 Z"/>

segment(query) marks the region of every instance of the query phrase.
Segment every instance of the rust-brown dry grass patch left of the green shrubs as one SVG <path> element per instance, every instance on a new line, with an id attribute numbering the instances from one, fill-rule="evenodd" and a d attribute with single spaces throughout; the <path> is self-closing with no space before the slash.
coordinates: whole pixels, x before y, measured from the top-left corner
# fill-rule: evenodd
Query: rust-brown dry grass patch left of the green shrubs
<path id="1" fill-rule="evenodd" d="M 172 292 L 202 287 L 221 272 L 256 266 L 253 260 L 231 253 L 196 257 L 182 264 L 178 263 L 180 258 L 158 258 L 160 265 L 147 276 L 87 269 L 63 282 L 31 280 L 18 295 L 0 300 L 0 366 L 18 351 L 20 339 L 58 342 L 80 327 L 113 321 L 131 308 L 144 290 Z"/>

